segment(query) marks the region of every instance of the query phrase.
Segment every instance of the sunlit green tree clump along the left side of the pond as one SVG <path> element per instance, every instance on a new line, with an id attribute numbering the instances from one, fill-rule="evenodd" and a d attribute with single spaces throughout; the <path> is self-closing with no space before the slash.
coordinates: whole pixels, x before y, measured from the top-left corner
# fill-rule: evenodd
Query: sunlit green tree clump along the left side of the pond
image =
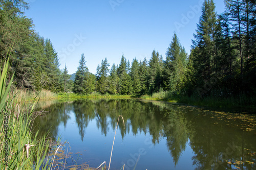
<path id="1" fill-rule="evenodd" d="M 36 33 L 32 19 L 24 16 L 24 10 L 28 8 L 28 3 L 23 0 L 0 0 L 1 68 L 9 51 L 9 77 L 14 74 L 12 88 L 72 90 L 73 82 L 69 81 L 67 67 L 59 69 L 52 42 Z"/>

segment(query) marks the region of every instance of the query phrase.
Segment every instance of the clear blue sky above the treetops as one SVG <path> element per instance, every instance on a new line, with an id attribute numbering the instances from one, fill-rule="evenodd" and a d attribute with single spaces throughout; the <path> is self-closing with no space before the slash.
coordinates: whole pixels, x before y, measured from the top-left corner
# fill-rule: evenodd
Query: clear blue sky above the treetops
<path id="1" fill-rule="evenodd" d="M 35 30 L 49 38 L 58 53 L 60 68 L 67 64 L 76 72 L 84 53 L 89 71 L 105 58 L 112 66 L 122 54 L 127 60 L 146 57 L 153 50 L 165 59 L 174 32 L 189 54 L 191 39 L 201 16 L 202 0 L 28 0 L 25 15 L 33 19 Z M 224 2 L 215 1 L 218 14 Z M 200 7 L 200 9 L 199 9 Z"/>

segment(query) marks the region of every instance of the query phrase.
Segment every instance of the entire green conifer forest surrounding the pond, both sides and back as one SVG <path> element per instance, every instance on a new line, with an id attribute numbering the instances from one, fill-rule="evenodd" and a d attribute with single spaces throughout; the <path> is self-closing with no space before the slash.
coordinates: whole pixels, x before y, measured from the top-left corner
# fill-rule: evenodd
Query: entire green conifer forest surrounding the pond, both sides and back
<path id="1" fill-rule="evenodd" d="M 0 0 L 1 68 L 11 50 L 9 77 L 12 88 L 90 94 L 152 95 L 169 91 L 178 96 L 248 99 L 256 94 L 256 2 L 225 0 L 225 13 L 217 14 L 212 0 L 205 0 L 191 42 L 190 55 L 174 33 L 166 54 L 152 52 L 150 60 L 126 60 L 125 54 L 110 66 L 107 58 L 97 74 L 81 54 L 75 81 L 68 67 L 60 70 L 58 54 L 50 39 L 34 30 L 23 0 Z M 191 40 L 187 40 L 191 41 Z M 1 70 L 2 71 L 2 70 Z"/>

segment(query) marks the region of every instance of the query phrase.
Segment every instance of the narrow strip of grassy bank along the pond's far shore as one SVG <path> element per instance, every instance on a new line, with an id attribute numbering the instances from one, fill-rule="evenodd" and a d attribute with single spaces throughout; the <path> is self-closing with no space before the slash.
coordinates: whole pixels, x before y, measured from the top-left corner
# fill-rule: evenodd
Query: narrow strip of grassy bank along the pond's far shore
<path id="1" fill-rule="evenodd" d="M 172 103 L 183 103 L 193 106 L 206 106 L 217 108 L 250 108 L 255 109 L 256 97 L 248 97 L 246 95 L 239 95 L 236 98 L 230 96 L 228 98 L 208 96 L 200 98 L 200 96 L 184 96 L 174 94 L 169 91 L 162 91 L 153 93 L 152 95 L 119 95 L 119 94 L 101 94 L 99 92 L 92 92 L 91 94 L 81 95 L 73 92 L 69 93 L 53 93 L 48 90 L 42 90 L 40 92 L 29 90 L 14 90 L 12 94 L 17 94 L 16 101 L 32 101 L 37 96 L 40 100 L 53 100 L 53 99 L 82 99 L 82 98 L 94 98 L 94 99 L 144 99 L 154 101 L 166 101 Z"/>

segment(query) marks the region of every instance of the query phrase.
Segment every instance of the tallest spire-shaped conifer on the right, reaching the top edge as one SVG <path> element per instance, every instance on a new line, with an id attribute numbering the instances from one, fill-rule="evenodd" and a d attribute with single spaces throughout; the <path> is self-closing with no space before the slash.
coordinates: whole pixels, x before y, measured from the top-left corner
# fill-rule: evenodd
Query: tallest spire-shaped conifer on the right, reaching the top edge
<path id="1" fill-rule="evenodd" d="M 216 63 L 215 33 L 216 33 L 216 12 L 215 4 L 212 0 L 205 0 L 202 7 L 202 16 L 197 25 L 197 34 L 194 34 L 193 49 L 194 66 L 196 67 L 196 77 L 198 86 L 203 87 L 205 81 L 209 81 Z M 198 47 L 198 48 L 197 48 Z M 196 53 L 197 52 L 197 53 Z"/>

